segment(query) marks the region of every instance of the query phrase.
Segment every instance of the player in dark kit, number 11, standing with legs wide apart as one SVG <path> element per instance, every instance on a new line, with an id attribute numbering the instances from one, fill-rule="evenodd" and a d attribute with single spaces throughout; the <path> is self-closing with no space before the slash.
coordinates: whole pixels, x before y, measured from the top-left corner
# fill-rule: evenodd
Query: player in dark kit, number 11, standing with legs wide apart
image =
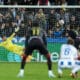
<path id="1" fill-rule="evenodd" d="M 46 48 L 46 37 L 44 31 L 39 27 L 37 21 L 33 22 L 33 27 L 27 30 L 26 41 L 25 41 L 25 55 L 22 58 L 21 69 L 18 77 L 24 76 L 24 66 L 26 64 L 26 58 L 28 55 L 32 55 L 33 50 L 38 50 L 47 59 L 48 64 L 48 75 L 49 77 L 55 77 L 52 73 L 52 62 L 50 54 Z"/>

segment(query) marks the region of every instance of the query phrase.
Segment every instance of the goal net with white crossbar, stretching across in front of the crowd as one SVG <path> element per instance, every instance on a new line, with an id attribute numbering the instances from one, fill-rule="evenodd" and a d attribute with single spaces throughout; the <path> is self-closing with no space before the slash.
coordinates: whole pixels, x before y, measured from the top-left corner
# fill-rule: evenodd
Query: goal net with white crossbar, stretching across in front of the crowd
<path id="1" fill-rule="evenodd" d="M 2 36 L 8 39 L 19 25 L 20 30 L 13 37 L 12 43 L 24 46 L 26 29 L 34 19 L 46 31 L 47 48 L 53 62 L 58 60 L 61 45 L 67 42 L 66 31 L 70 27 L 80 37 L 79 6 L 0 6 L 0 44 L 5 44 Z M 37 51 L 33 52 L 33 57 L 32 61 L 46 61 Z M 0 61 L 20 62 L 21 57 L 0 45 Z"/>

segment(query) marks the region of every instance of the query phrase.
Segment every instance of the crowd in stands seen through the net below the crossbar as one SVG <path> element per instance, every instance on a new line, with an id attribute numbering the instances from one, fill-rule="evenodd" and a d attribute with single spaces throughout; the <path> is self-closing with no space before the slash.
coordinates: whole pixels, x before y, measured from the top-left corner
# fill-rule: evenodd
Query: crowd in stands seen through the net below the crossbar
<path id="1" fill-rule="evenodd" d="M 50 9 L 50 8 L 0 8 L 0 36 L 9 37 L 15 27 L 19 26 L 18 36 L 23 37 L 27 28 L 37 20 L 48 37 L 65 37 L 64 32 L 70 28 L 80 36 L 80 9 Z M 59 23 L 63 20 L 64 23 Z"/>

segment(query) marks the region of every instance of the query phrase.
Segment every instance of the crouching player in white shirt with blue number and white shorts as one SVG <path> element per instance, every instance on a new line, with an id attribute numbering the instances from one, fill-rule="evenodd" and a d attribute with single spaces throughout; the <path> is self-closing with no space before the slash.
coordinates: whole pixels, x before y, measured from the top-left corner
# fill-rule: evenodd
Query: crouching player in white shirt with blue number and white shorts
<path id="1" fill-rule="evenodd" d="M 77 49 L 73 46 L 74 41 L 70 38 L 67 44 L 61 46 L 60 59 L 58 61 L 58 74 L 62 76 L 63 68 L 73 68 L 75 59 L 77 58 Z"/>

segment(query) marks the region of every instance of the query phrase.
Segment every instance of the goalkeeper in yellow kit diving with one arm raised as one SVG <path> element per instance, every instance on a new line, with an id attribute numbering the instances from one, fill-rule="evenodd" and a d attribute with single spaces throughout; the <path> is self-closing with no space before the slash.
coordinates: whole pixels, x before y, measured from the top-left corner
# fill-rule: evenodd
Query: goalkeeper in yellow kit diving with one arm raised
<path id="1" fill-rule="evenodd" d="M 3 42 L 0 43 L 0 46 L 4 47 L 5 49 L 7 49 L 13 53 L 16 53 L 18 55 L 22 55 L 22 53 L 24 51 L 24 47 L 12 43 L 12 39 L 18 31 L 19 31 L 19 27 L 15 28 L 15 32 L 9 38 L 2 36 Z"/>

